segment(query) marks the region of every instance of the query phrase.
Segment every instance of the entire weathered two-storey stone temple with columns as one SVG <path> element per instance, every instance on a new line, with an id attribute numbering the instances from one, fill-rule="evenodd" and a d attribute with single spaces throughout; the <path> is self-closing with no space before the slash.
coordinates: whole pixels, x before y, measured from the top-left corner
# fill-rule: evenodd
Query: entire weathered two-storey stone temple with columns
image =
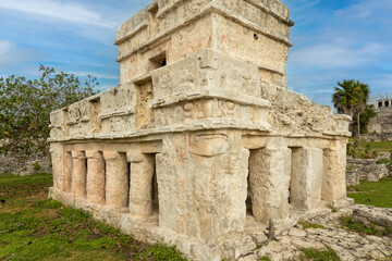
<path id="1" fill-rule="evenodd" d="M 117 34 L 119 86 L 51 113 L 50 196 L 195 260 L 346 202 L 350 116 L 286 88 L 278 0 L 156 0 Z"/>

